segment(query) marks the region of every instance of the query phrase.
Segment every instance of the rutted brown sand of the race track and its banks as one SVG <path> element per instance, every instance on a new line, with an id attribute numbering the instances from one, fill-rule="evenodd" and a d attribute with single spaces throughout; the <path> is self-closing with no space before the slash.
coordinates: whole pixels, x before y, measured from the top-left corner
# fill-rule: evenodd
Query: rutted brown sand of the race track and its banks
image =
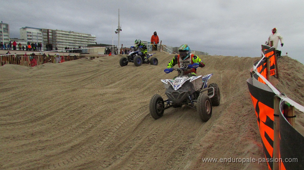
<path id="1" fill-rule="evenodd" d="M 119 66 L 122 55 L 60 64 L 0 67 L 0 169 L 264 169 L 261 163 L 206 163 L 202 158 L 264 158 L 246 80 L 260 57 L 199 56 L 214 73 L 221 104 L 202 122 L 189 107 L 149 114 L 174 55 L 154 54 L 159 65 Z M 284 63 L 286 65 L 282 65 Z M 278 90 L 301 105 L 304 66 L 279 60 Z M 302 131 L 303 115 L 297 113 Z M 304 134 L 304 133 L 303 133 Z"/>

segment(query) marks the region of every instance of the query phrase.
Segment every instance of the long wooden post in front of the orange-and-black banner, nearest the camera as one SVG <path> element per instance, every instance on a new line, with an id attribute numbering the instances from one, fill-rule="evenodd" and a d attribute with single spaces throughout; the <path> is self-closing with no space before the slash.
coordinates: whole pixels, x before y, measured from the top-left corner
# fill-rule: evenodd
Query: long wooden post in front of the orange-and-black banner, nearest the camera
<path id="1" fill-rule="evenodd" d="M 273 121 L 273 159 L 279 159 L 280 152 L 280 101 L 281 98 L 277 95 L 274 96 L 274 121 Z M 273 162 L 272 170 L 279 170 L 279 162 Z"/>

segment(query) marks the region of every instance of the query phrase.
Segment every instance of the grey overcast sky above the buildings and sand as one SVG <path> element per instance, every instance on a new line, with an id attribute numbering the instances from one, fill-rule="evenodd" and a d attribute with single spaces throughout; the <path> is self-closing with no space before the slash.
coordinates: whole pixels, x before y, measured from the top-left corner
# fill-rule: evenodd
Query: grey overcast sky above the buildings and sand
<path id="1" fill-rule="evenodd" d="M 150 41 L 157 31 L 162 44 L 171 47 L 188 44 L 210 55 L 260 57 L 261 44 L 277 28 L 284 38 L 278 50 L 301 63 L 303 8 L 303 0 L 6 0 L 0 5 L 10 38 L 20 38 L 22 27 L 34 27 L 94 34 L 98 44 L 112 44 L 113 38 L 118 45 L 119 9 L 123 46 L 137 38 Z"/>

